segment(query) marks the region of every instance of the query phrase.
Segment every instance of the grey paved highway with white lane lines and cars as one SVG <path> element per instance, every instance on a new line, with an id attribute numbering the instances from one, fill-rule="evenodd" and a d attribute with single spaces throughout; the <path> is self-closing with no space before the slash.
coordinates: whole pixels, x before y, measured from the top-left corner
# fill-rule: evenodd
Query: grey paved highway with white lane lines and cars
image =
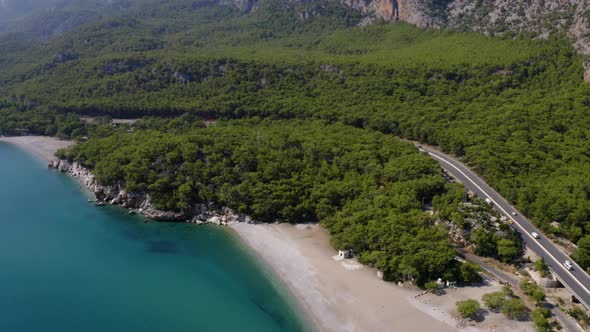
<path id="1" fill-rule="evenodd" d="M 438 161 L 444 169 L 463 182 L 467 189 L 482 199 L 490 199 L 498 212 L 512 220 L 513 227 L 521 233 L 526 246 L 543 257 L 554 276 L 580 300 L 586 309 L 590 310 L 590 276 L 578 264 L 463 163 L 428 147 L 419 146 L 419 149 Z M 539 238 L 535 239 L 531 235 L 532 232 L 539 234 Z M 568 270 L 564 267 L 565 260 L 572 262 L 573 269 Z"/>

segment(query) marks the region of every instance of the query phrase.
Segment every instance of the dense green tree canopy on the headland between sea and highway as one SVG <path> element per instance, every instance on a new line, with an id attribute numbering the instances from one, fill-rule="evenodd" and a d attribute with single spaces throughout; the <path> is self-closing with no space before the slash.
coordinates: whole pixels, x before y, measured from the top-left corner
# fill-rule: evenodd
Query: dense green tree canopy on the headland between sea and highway
<path id="1" fill-rule="evenodd" d="M 59 155 L 103 184 L 149 193 L 162 209 L 207 204 L 265 222 L 321 221 L 335 247 L 353 249 L 387 280 L 480 280 L 421 210 L 444 179 L 412 145 L 325 121 L 191 123 L 146 120 Z"/>

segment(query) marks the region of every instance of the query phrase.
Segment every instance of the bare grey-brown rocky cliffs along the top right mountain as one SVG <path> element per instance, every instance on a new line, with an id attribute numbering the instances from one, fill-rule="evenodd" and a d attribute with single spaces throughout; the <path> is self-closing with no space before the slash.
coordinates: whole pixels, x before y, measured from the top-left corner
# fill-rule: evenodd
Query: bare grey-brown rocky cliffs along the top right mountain
<path id="1" fill-rule="evenodd" d="M 256 10 L 257 0 L 220 0 L 245 11 Z M 315 17 L 308 3 L 327 0 L 283 0 L 302 7 L 300 19 Z M 337 0 L 370 18 L 405 21 L 421 28 L 450 28 L 484 34 L 527 32 L 537 38 L 564 33 L 575 48 L 590 55 L 590 0 Z M 309 7 L 309 6 L 307 6 Z M 361 21 L 360 25 L 368 21 Z M 584 64 L 590 81 L 590 61 Z"/>

